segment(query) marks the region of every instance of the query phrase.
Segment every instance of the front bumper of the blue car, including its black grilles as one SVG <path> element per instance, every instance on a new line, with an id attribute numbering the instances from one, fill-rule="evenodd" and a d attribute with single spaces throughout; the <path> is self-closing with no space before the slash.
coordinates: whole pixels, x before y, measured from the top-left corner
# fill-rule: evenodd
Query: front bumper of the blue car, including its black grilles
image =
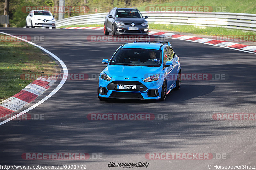
<path id="1" fill-rule="evenodd" d="M 128 80 L 125 78 L 129 78 Z M 136 85 L 136 90 L 117 89 L 116 84 Z M 110 81 L 99 77 L 99 96 L 116 99 L 160 99 L 163 80 L 144 82 L 141 78 L 112 77 Z M 101 89 L 102 88 L 102 89 Z M 156 90 L 156 91 L 155 91 Z M 156 95 L 155 95 L 156 94 Z"/>

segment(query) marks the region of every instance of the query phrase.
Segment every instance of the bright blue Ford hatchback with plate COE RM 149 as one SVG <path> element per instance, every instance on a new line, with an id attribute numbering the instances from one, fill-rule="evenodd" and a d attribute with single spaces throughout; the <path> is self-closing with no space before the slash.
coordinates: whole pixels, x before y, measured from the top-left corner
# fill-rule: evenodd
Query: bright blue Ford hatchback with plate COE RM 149
<path id="1" fill-rule="evenodd" d="M 98 98 L 161 99 L 180 89 L 179 57 L 169 42 L 135 41 L 120 46 L 100 73 Z"/>

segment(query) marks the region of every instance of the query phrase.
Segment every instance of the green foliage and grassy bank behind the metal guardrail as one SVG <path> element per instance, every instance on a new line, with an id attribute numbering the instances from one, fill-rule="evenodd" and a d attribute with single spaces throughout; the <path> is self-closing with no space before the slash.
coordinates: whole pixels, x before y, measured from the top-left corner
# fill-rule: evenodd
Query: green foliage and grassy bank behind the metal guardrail
<path id="1" fill-rule="evenodd" d="M 27 13 L 21 9 L 24 6 L 58 6 L 59 0 L 10 0 L 10 25 L 12 27 L 25 26 Z M 89 13 L 65 13 L 65 18 L 95 13 L 109 12 L 113 7 L 137 7 L 145 11 L 148 6 L 210 6 L 213 11 L 216 7 L 224 7 L 222 12 L 255 13 L 255 0 L 65 0 L 66 6 L 89 6 Z M 0 0 L 0 14 L 3 14 L 4 0 Z M 218 11 L 217 11 L 218 12 Z M 57 13 L 53 13 L 56 15 Z"/>

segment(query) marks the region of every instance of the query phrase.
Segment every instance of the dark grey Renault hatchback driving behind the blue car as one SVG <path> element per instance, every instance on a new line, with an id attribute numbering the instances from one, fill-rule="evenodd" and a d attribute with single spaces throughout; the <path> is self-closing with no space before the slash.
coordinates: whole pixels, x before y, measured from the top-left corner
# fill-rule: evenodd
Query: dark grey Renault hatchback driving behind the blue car
<path id="1" fill-rule="evenodd" d="M 148 35 L 148 17 L 141 15 L 137 8 L 113 8 L 105 17 L 104 34 Z"/>

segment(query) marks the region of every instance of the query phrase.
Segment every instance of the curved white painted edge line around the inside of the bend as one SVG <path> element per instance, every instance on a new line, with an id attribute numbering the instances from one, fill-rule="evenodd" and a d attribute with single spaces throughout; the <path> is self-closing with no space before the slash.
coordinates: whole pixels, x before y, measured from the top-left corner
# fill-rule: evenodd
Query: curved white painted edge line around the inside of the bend
<path id="1" fill-rule="evenodd" d="M 60 63 L 60 65 L 61 65 L 61 67 L 62 67 L 62 69 L 63 69 L 63 74 L 67 74 L 67 75 L 68 75 L 68 69 L 67 69 L 67 66 L 65 65 L 65 63 L 64 63 L 62 60 L 60 60 L 59 57 L 57 57 L 56 55 L 54 55 L 54 54 L 51 53 L 50 51 L 46 50 L 45 48 L 43 48 L 43 47 L 41 47 L 41 46 L 39 46 L 39 45 L 37 45 L 37 44 L 35 44 L 35 43 L 33 43 L 33 42 L 30 42 L 30 41 L 26 40 L 26 39 L 22 39 L 22 38 L 20 38 L 20 37 L 13 36 L 13 35 L 11 35 L 11 34 L 7 34 L 7 33 L 4 33 L 4 32 L 1 32 L 1 31 L 0 31 L 0 33 L 1 33 L 1 34 L 5 34 L 5 35 L 12 36 L 12 37 L 17 38 L 17 39 L 20 39 L 20 40 L 22 40 L 22 41 L 25 41 L 25 42 L 27 42 L 27 43 L 29 43 L 29 44 L 31 44 L 31 45 L 33 45 L 33 46 L 36 46 L 36 47 L 38 47 L 39 49 L 43 50 L 45 53 L 51 55 L 54 59 L 56 59 L 56 60 Z M 0 122 L 0 125 L 9 122 L 9 121 L 15 119 L 16 117 L 19 117 L 19 116 L 23 115 L 24 113 L 27 113 L 28 111 L 34 109 L 36 106 L 40 105 L 41 103 L 43 103 L 44 101 L 46 101 L 47 99 L 49 99 L 50 97 L 52 97 L 52 96 L 64 85 L 65 81 L 67 80 L 67 77 L 68 77 L 68 76 L 63 76 L 62 80 L 60 81 L 60 84 L 59 84 L 49 95 L 45 96 L 42 100 L 40 100 L 39 102 L 35 103 L 33 106 L 30 106 L 28 109 L 23 110 L 22 112 L 18 113 L 17 115 L 15 115 L 15 116 L 13 116 L 13 117 L 10 117 L 10 118 L 4 120 L 3 122 Z"/>

